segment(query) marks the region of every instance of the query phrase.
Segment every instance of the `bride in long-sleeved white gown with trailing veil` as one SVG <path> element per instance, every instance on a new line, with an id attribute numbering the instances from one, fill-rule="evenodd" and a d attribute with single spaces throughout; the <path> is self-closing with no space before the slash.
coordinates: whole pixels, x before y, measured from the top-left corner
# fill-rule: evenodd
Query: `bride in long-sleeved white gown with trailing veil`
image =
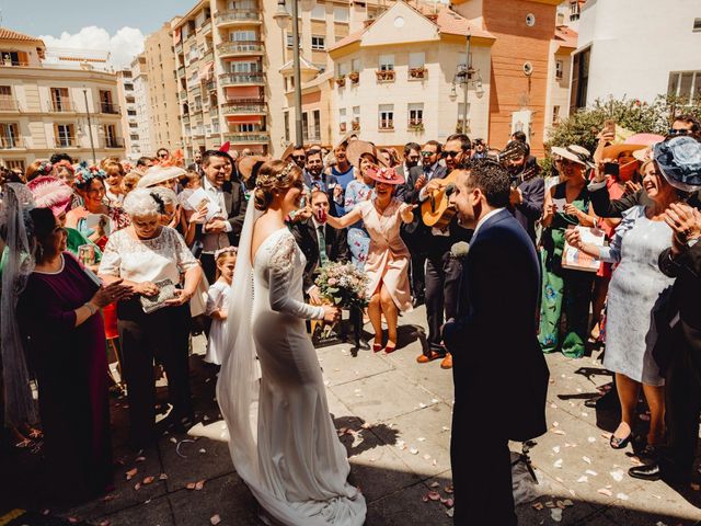
<path id="1" fill-rule="evenodd" d="M 296 164 L 261 167 L 239 244 L 217 398 L 235 470 L 273 522 L 359 526 L 365 499 L 346 481 L 350 467 L 304 323 L 334 321 L 338 310 L 303 302 L 304 256 L 285 226 L 302 191 Z"/>

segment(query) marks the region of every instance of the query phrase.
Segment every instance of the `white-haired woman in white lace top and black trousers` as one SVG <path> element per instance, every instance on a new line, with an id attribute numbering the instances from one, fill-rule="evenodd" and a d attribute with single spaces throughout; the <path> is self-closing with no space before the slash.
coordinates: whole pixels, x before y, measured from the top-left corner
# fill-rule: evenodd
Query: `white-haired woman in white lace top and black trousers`
<path id="1" fill-rule="evenodd" d="M 161 225 L 163 201 L 149 188 L 124 199 L 131 226 L 114 233 L 100 264 L 105 283 L 123 279 L 134 297 L 117 306 L 123 368 L 129 400 L 129 442 L 152 445 L 156 386 L 153 359 L 168 375 L 172 418 L 180 426 L 193 419 L 189 396 L 189 306 L 202 268 L 174 229 Z"/>

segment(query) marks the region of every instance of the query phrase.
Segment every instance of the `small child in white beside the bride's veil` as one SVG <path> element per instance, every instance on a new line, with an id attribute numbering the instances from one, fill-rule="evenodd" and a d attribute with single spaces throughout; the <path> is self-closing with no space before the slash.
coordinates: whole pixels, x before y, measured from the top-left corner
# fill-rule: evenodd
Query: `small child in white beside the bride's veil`
<path id="1" fill-rule="evenodd" d="M 217 281 L 207 291 L 206 315 L 211 318 L 209 339 L 207 341 L 207 354 L 205 362 L 221 365 L 225 345 L 227 344 L 227 301 L 233 278 L 233 268 L 237 264 L 237 249 L 228 247 L 215 252 L 217 263 Z"/>

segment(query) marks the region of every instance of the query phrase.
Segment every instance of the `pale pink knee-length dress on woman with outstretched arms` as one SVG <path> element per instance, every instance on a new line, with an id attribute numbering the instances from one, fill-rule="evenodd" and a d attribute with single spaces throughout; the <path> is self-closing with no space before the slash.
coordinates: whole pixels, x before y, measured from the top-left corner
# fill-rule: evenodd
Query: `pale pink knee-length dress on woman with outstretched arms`
<path id="1" fill-rule="evenodd" d="M 402 218 L 399 214 L 401 202 L 392 199 L 380 214 L 375 208 L 375 199 L 357 205 L 363 214 L 365 229 L 370 235 L 370 249 L 365 263 L 365 272 L 370 278 L 368 294 L 374 294 L 383 283 L 397 308 L 412 310 L 412 297 L 409 287 L 409 249 L 400 237 Z"/>

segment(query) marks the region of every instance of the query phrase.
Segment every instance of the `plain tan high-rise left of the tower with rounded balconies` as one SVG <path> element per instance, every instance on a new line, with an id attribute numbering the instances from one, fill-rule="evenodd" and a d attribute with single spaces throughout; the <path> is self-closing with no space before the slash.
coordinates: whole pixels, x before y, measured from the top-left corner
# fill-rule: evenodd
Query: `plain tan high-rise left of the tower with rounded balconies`
<path id="1" fill-rule="evenodd" d="M 148 106 L 150 125 L 149 147 L 143 155 L 156 153 L 158 148 L 174 150 L 183 147 L 180 121 L 179 83 L 175 78 L 175 54 L 173 52 L 172 26 L 174 18 L 143 42 L 143 62 L 140 69 L 148 77 Z M 137 115 L 138 116 L 138 115 Z"/>

